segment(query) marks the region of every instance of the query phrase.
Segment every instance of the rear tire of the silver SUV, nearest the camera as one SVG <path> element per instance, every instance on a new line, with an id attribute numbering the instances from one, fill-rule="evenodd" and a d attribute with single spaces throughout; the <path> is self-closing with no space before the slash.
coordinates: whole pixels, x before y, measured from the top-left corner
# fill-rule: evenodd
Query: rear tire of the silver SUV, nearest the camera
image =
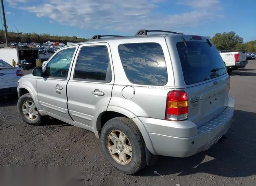
<path id="1" fill-rule="evenodd" d="M 126 155 L 126 158 L 128 157 L 126 164 L 125 162 L 117 162 L 117 160 L 113 158 L 114 155 L 112 156 L 110 154 L 110 150 L 108 148 L 108 146 L 110 146 L 109 143 L 112 142 L 112 140 L 110 140 L 109 137 L 113 133 L 116 133 L 116 131 L 122 132 L 127 137 L 129 142 L 127 143 L 127 140 L 126 140 L 126 146 L 127 144 L 128 146 L 130 144 L 130 146 L 132 147 L 131 148 L 132 156 L 130 156 L 129 158 L 129 155 Z M 116 137 L 118 137 L 118 132 L 116 133 Z M 113 139 L 116 140 L 116 138 L 113 138 Z M 118 140 L 120 140 L 120 135 L 116 141 Z M 135 125 L 135 123 L 132 120 L 124 117 L 116 117 L 107 121 L 102 128 L 101 135 L 100 135 L 100 142 L 106 158 L 108 159 L 110 164 L 119 172 L 122 172 L 124 174 L 134 174 L 146 166 L 146 152 L 144 148 L 145 143 L 138 127 Z M 126 146 L 124 145 L 125 150 L 127 150 Z M 120 146 L 118 146 L 118 148 L 120 148 Z M 116 150 L 119 150 L 119 149 L 116 149 Z M 118 154 L 118 157 L 119 157 L 119 154 Z"/>

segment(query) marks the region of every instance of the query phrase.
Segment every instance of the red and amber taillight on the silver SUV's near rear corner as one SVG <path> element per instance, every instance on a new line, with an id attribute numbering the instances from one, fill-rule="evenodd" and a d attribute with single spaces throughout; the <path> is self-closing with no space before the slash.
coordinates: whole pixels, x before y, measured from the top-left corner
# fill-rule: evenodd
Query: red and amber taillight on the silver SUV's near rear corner
<path id="1" fill-rule="evenodd" d="M 188 96 L 185 91 L 168 92 L 165 119 L 170 121 L 188 119 Z"/>

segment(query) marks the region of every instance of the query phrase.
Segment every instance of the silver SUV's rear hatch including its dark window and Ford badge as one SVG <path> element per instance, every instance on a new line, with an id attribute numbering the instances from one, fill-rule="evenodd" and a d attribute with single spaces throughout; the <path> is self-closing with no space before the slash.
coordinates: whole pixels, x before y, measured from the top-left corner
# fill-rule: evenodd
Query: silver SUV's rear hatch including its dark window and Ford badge
<path id="1" fill-rule="evenodd" d="M 217 115 L 227 105 L 230 79 L 218 50 L 204 37 L 179 37 L 176 49 L 183 77 L 175 79 L 175 89 L 188 98 L 188 119 L 200 126 Z"/>

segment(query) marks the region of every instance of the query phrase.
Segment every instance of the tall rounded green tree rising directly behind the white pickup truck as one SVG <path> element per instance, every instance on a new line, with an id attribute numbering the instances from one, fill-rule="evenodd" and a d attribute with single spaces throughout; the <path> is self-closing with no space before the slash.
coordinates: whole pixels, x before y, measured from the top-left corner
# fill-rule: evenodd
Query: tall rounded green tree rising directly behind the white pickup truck
<path id="1" fill-rule="evenodd" d="M 216 33 L 212 37 L 212 42 L 219 50 L 231 50 L 234 51 L 237 44 L 242 44 L 244 39 L 236 35 L 234 31 L 223 32 L 222 34 Z"/>

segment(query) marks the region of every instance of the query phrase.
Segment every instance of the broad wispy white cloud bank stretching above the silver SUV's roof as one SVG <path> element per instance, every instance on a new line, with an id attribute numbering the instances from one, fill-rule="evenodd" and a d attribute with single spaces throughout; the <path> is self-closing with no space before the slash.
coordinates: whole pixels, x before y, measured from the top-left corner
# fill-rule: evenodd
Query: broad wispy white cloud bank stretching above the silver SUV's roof
<path id="1" fill-rule="evenodd" d="M 12 3 L 29 0 L 8 0 Z M 34 1 L 34 0 L 30 0 Z M 180 6 L 190 6 L 190 12 L 181 14 L 156 12 L 160 4 L 166 6 L 174 0 L 44 0 L 36 6 L 20 6 L 22 10 L 34 13 L 38 17 L 67 26 L 89 30 L 117 30 L 136 32 L 138 29 L 179 30 L 193 27 L 219 17 L 216 7 L 219 0 L 180 0 Z M 182 8 L 181 8 L 182 10 Z M 185 10 L 185 9 L 184 9 Z"/>

